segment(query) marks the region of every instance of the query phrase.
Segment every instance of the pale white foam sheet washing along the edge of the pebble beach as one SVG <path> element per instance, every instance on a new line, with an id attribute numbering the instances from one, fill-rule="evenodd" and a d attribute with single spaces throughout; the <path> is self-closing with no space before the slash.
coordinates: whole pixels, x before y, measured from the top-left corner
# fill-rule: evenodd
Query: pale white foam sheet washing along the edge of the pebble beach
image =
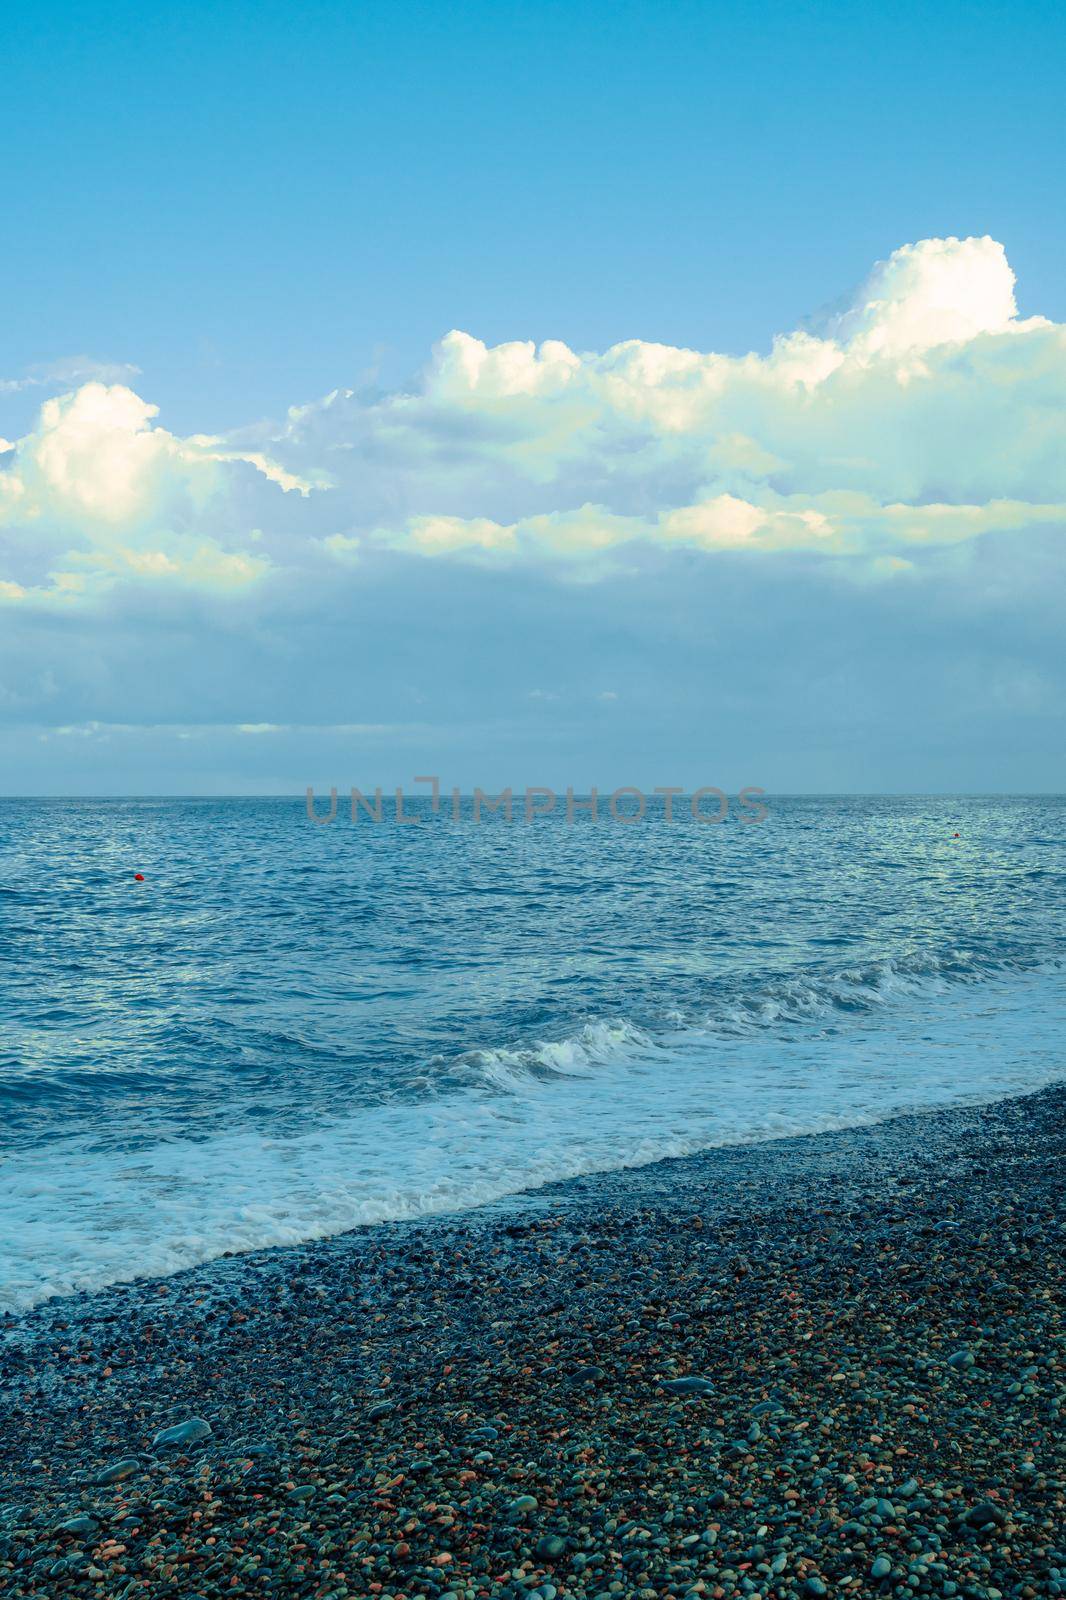
<path id="1" fill-rule="evenodd" d="M 291 1138 L 230 1126 L 126 1155 L 56 1141 L 3 1170 L 0 1304 L 1061 1075 L 1058 973 L 949 976 L 959 971 L 896 963 L 783 984 L 655 1035 L 608 1019 L 562 1042 L 472 1051 L 453 1091 L 339 1114 Z M 765 1026 L 812 1019 L 820 1026 Z"/>

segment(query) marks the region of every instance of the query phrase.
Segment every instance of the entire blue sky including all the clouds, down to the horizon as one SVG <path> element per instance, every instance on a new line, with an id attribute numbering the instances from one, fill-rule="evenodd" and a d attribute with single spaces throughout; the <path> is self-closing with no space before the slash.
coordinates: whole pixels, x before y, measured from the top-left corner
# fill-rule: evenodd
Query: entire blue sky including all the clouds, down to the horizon
<path id="1" fill-rule="evenodd" d="M 11 13 L 0 794 L 1066 787 L 1064 34 Z"/>

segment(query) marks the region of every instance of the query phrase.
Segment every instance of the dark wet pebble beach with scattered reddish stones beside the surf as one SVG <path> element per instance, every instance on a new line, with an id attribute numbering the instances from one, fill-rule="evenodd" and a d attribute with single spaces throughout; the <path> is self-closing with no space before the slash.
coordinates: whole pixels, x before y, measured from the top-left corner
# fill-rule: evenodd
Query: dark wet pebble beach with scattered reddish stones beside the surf
<path id="1" fill-rule="evenodd" d="M 0 1578 L 1066 1594 L 1064 1123 L 1052 1086 L 720 1146 L 6 1317 Z"/>

